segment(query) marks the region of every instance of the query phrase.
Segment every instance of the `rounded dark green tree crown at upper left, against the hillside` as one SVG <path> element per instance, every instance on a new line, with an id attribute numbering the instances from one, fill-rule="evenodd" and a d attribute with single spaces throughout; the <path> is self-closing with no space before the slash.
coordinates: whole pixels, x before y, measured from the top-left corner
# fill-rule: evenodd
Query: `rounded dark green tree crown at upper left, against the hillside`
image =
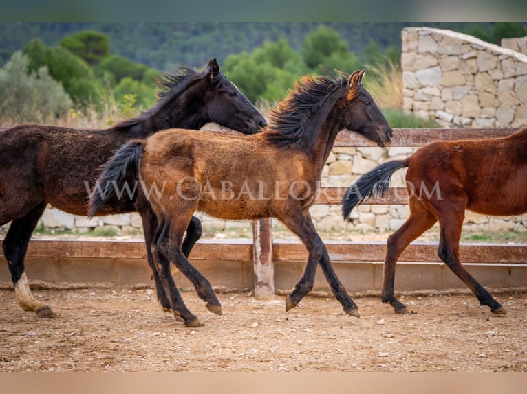
<path id="1" fill-rule="evenodd" d="M 68 49 L 89 65 L 98 65 L 109 55 L 109 40 L 106 34 L 83 30 L 61 40 L 61 47 Z"/>

